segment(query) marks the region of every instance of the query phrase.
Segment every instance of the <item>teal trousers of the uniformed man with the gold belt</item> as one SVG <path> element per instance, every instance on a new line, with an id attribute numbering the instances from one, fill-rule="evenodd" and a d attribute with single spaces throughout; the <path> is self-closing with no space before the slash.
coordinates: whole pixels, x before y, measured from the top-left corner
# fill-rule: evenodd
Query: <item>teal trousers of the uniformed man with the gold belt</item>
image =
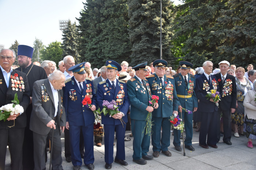
<path id="1" fill-rule="evenodd" d="M 179 117 L 181 118 L 181 113 L 178 113 Z M 184 141 L 185 146 L 191 146 L 192 145 L 192 137 L 193 137 L 193 113 L 188 114 L 188 112 L 185 112 L 182 110 L 182 120 L 184 120 L 185 124 L 185 131 L 186 131 L 186 139 Z M 180 146 L 180 136 L 181 131 L 174 129 L 174 139 L 173 139 L 173 145 L 174 146 Z"/>

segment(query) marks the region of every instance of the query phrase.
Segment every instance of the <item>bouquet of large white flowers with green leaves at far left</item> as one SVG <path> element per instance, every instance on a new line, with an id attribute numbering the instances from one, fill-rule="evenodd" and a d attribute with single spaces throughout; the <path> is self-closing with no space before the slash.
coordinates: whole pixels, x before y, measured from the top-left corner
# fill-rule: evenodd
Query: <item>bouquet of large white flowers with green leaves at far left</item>
<path id="1" fill-rule="evenodd" d="M 0 107 L 0 120 L 5 120 L 10 116 L 18 113 L 23 113 L 24 109 L 22 106 L 19 105 L 18 95 L 15 93 L 14 100 L 12 103 L 15 104 L 5 104 L 4 106 Z M 14 120 L 15 121 L 15 120 Z M 15 123 L 15 122 L 14 122 Z"/>

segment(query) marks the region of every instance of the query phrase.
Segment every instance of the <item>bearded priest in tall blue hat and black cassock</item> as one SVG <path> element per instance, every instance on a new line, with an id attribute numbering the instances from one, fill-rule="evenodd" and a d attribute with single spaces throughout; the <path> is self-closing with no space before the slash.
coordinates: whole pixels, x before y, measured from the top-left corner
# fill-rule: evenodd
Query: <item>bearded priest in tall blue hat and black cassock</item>
<path id="1" fill-rule="evenodd" d="M 23 142 L 23 170 L 34 169 L 34 149 L 33 149 L 33 132 L 29 130 L 30 115 L 32 111 L 32 92 L 33 84 L 37 80 L 47 79 L 44 68 L 34 65 L 31 61 L 34 48 L 26 45 L 18 46 L 18 64 L 19 70 L 27 75 L 27 79 L 30 87 L 30 104 L 27 107 L 27 126 L 25 128 L 24 142 Z"/>

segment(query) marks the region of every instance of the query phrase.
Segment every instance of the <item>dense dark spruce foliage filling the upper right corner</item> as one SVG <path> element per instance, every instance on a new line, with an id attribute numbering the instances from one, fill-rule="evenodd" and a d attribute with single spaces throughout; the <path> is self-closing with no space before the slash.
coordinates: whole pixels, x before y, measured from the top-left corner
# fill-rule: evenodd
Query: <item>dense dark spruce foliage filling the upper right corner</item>
<path id="1" fill-rule="evenodd" d="M 256 0 L 191 0 L 174 11 L 172 43 L 183 60 L 202 66 L 221 60 L 255 63 Z M 180 44 L 181 47 L 178 47 Z M 175 48 L 172 48 L 172 50 Z"/>

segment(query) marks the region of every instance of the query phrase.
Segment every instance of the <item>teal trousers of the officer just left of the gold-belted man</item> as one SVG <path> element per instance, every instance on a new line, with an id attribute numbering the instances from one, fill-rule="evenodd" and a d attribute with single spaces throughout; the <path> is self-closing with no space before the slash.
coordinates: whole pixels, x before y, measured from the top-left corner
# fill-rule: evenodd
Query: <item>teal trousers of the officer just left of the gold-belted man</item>
<path id="1" fill-rule="evenodd" d="M 170 146 L 170 135 L 171 135 L 171 122 L 170 118 L 157 118 L 152 117 L 152 145 L 153 151 L 167 151 Z M 162 127 L 162 137 L 161 137 L 161 127 Z"/>

